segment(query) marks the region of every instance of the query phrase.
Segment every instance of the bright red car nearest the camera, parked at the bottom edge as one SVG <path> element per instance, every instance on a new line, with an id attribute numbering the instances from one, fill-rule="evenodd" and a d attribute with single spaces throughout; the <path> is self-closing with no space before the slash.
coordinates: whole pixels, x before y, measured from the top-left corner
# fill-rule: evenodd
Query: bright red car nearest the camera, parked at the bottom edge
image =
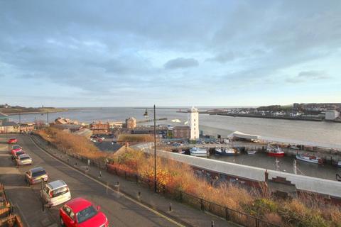
<path id="1" fill-rule="evenodd" d="M 107 216 L 83 198 L 68 201 L 59 209 L 60 225 L 66 227 L 108 227 Z"/>

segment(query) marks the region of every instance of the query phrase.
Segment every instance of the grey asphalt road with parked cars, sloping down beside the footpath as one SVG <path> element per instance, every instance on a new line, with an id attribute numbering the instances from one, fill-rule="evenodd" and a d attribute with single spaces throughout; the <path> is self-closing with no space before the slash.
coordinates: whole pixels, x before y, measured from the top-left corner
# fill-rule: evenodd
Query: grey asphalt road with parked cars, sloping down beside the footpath
<path id="1" fill-rule="evenodd" d="M 33 158 L 33 166 L 14 167 L 5 144 L 6 136 L 0 136 L 0 182 L 4 184 L 6 193 L 17 211 L 21 213 L 23 221 L 28 226 L 57 226 L 59 223 L 58 209 L 41 211 L 39 199 L 40 184 L 28 187 L 23 178 L 24 172 L 32 167 L 44 167 L 50 176 L 50 181 L 63 179 L 70 187 L 72 198 L 83 197 L 101 206 L 101 211 L 107 215 L 110 226 L 181 226 L 171 218 L 165 218 L 155 211 L 127 199 L 122 194 L 107 189 L 105 185 L 86 177 L 81 172 L 72 169 L 59 160 L 40 150 L 31 138 L 18 135 L 18 144 Z"/>

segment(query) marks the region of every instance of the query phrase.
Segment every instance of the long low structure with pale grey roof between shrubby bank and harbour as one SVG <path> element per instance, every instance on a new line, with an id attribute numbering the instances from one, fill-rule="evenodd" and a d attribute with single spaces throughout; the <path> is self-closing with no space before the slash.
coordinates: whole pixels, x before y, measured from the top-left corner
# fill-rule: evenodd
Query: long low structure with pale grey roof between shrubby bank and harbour
<path id="1" fill-rule="evenodd" d="M 153 154 L 153 143 L 141 143 L 134 145 L 134 148 Z M 341 204 L 341 182 L 334 180 L 266 170 L 237 163 L 170 153 L 164 150 L 157 150 L 156 155 L 190 165 L 198 175 L 211 182 L 227 181 L 245 187 L 266 185 L 270 191 L 282 196 L 295 197 L 302 193 L 318 194 L 326 201 Z"/>

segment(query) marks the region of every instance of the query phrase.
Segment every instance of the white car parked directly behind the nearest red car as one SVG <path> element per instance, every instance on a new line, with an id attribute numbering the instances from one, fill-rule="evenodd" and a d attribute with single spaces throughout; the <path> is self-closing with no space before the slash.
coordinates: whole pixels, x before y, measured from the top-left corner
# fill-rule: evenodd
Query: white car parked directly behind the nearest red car
<path id="1" fill-rule="evenodd" d="M 57 206 L 71 199 L 71 193 L 67 184 L 63 180 L 56 180 L 45 184 L 42 196 L 48 206 Z"/>

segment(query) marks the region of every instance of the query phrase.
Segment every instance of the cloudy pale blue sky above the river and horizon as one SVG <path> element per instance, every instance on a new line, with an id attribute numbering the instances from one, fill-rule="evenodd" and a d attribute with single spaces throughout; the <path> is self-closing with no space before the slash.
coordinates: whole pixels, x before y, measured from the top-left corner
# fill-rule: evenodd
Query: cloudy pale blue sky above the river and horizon
<path id="1" fill-rule="evenodd" d="M 340 11 L 340 0 L 0 0 L 0 104 L 341 102 Z"/>

